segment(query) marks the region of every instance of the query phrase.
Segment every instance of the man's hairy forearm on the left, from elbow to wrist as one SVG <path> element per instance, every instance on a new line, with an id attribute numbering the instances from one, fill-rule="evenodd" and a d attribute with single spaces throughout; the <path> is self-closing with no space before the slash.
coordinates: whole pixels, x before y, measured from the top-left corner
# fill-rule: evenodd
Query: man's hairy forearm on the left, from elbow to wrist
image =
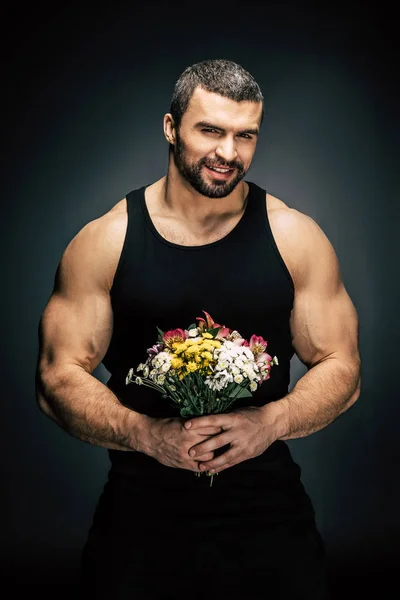
<path id="1" fill-rule="evenodd" d="M 36 375 L 40 409 L 72 436 L 113 450 L 141 448 L 146 415 L 123 406 L 117 396 L 78 366 Z"/>

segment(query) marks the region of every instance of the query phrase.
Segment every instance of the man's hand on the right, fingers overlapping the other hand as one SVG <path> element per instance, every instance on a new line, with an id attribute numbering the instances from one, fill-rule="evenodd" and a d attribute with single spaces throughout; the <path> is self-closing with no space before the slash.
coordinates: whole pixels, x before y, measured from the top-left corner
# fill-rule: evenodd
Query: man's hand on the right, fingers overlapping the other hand
<path id="1" fill-rule="evenodd" d="M 200 461 L 200 471 L 219 473 L 262 454 L 277 439 L 273 423 L 267 422 L 267 406 L 249 406 L 186 421 L 184 427 L 193 433 L 204 431 L 204 427 L 211 425 L 222 428 L 221 434 L 189 448 L 190 456 Z M 209 458 L 212 451 L 227 444 L 230 444 L 229 450 L 216 458 Z"/>

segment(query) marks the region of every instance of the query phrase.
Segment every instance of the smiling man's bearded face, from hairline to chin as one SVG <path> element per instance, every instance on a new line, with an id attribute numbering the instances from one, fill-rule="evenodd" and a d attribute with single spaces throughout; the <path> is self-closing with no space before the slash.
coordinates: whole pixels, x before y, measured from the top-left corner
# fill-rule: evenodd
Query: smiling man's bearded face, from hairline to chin
<path id="1" fill-rule="evenodd" d="M 235 189 L 250 168 L 261 112 L 261 103 L 196 88 L 173 147 L 176 168 L 196 192 L 223 198 Z"/>

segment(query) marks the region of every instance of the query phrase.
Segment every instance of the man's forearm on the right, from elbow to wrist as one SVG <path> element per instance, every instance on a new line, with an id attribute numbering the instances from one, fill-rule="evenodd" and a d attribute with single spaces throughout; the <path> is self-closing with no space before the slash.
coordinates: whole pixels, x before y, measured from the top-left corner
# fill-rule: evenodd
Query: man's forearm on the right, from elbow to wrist
<path id="1" fill-rule="evenodd" d="M 307 371 L 284 398 L 266 404 L 267 422 L 276 439 L 289 440 L 323 429 L 345 412 L 360 395 L 359 367 L 327 358 Z"/>

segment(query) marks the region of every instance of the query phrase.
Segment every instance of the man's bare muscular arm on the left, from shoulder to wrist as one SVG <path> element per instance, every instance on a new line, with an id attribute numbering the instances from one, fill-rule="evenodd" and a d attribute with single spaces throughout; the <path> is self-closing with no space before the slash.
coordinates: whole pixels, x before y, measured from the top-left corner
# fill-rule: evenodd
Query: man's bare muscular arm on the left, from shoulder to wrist
<path id="1" fill-rule="evenodd" d="M 110 289 L 126 214 L 88 223 L 66 248 L 39 326 L 36 398 L 72 436 L 116 450 L 142 450 L 146 415 L 124 407 L 92 372 L 112 335 Z"/>

